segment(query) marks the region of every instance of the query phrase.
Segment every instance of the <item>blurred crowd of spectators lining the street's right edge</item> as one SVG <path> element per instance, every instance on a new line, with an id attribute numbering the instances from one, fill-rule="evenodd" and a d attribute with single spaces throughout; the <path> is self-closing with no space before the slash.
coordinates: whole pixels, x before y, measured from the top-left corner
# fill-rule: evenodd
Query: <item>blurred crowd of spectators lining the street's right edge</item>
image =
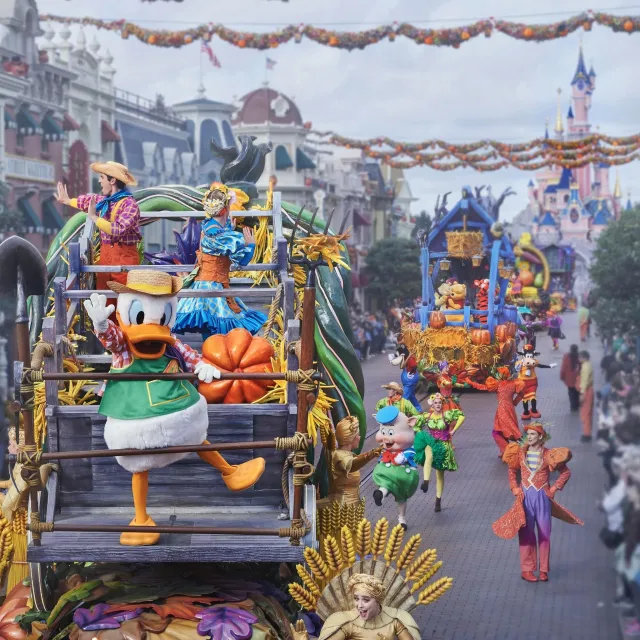
<path id="1" fill-rule="evenodd" d="M 597 393 L 596 442 L 609 486 L 600 538 L 615 550 L 615 604 L 624 634 L 640 637 L 640 367 L 635 344 L 614 340 L 601 367 L 605 384 Z"/>

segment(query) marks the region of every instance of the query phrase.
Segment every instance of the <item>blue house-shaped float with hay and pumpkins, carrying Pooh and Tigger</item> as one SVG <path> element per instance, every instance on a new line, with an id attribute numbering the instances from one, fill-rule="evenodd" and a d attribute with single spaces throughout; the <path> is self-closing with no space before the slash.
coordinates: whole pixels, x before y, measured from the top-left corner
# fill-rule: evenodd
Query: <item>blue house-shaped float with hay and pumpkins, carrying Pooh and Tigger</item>
<path id="1" fill-rule="evenodd" d="M 507 302 L 507 288 L 516 254 L 502 224 L 464 187 L 420 242 L 420 321 L 405 324 L 401 340 L 423 370 L 448 362 L 482 381 L 496 366 L 513 364 L 518 311 Z M 454 377 L 454 384 L 463 382 Z"/>

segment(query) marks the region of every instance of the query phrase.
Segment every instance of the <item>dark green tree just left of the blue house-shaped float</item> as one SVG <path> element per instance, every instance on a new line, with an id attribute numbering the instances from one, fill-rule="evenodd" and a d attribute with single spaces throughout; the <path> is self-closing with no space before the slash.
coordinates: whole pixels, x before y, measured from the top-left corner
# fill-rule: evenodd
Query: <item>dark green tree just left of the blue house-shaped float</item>
<path id="1" fill-rule="evenodd" d="M 420 248 L 413 240 L 386 238 L 369 249 L 365 273 L 367 293 L 389 306 L 394 298 L 420 295 Z"/>

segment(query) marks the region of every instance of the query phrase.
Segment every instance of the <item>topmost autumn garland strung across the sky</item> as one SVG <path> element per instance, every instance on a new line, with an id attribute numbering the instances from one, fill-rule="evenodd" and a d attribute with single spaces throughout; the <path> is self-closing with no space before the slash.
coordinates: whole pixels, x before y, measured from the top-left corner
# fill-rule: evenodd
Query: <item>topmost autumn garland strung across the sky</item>
<path id="1" fill-rule="evenodd" d="M 416 44 L 436 47 L 454 47 L 484 35 L 490 38 L 494 31 L 503 33 L 516 40 L 547 42 L 564 38 L 570 33 L 583 29 L 591 31 L 594 24 L 607 27 L 618 33 L 635 33 L 640 31 L 640 16 L 616 16 L 610 13 L 584 11 L 567 20 L 549 24 L 525 24 L 486 18 L 462 27 L 429 29 L 417 27 L 409 23 L 381 25 L 363 31 L 334 31 L 313 25 L 289 25 L 269 32 L 236 31 L 222 24 L 202 24 L 191 29 L 179 31 L 164 29 L 147 29 L 126 20 L 101 20 L 98 18 L 72 18 L 45 14 L 40 16 L 43 22 L 59 22 L 64 24 L 82 24 L 119 33 L 124 39 L 131 36 L 156 47 L 183 47 L 195 40 L 209 41 L 213 36 L 241 49 L 274 49 L 293 40 L 301 42 L 303 38 L 317 44 L 335 47 L 336 49 L 364 49 L 382 40 L 393 41 L 397 37 L 413 40 Z"/>

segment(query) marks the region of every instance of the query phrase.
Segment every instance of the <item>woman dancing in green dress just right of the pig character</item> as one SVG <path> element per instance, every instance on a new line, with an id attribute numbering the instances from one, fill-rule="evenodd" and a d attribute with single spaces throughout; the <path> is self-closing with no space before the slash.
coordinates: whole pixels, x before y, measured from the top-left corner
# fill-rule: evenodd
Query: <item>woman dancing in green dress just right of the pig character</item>
<path id="1" fill-rule="evenodd" d="M 442 492 L 444 491 L 444 472 L 457 471 L 458 463 L 453 452 L 451 438 L 464 422 L 464 414 L 460 409 L 444 409 L 444 398 L 434 393 L 429 398 L 431 411 L 423 416 L 422 431 L 416 434 L 414 448 L 416 462 L 424 466 L 424 482 L 422 490 L 429 490 L 431 469 L 436 470 L 436 511 L 441 510 Z"/>

